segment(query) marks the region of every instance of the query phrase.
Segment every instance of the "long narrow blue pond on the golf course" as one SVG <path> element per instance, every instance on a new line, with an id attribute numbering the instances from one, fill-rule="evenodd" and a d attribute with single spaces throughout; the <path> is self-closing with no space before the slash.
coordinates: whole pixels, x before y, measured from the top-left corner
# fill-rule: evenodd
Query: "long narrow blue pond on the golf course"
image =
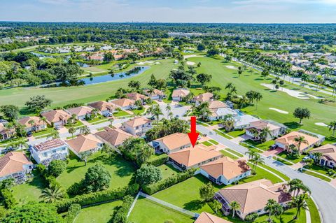
<path id="1" fill-rule="evenodd" d="M 130 78 L 134 77 L 136 75 L 139 75 L 141 73 L 144 73 L 144 71 L 148 70 L 149 66 L 136 66 L 134 69 L 126 72 L 120 72 L 120 73 L 109 73 L 106 75 L 100 75 L 100 76 L 94 76 L 89 78 L 82 78 L 80 81 L 84 82 L 84 85 L 92 85 L 102 82 L 107 82 L 111 80 L 120 80 L 124 78 Z"/>

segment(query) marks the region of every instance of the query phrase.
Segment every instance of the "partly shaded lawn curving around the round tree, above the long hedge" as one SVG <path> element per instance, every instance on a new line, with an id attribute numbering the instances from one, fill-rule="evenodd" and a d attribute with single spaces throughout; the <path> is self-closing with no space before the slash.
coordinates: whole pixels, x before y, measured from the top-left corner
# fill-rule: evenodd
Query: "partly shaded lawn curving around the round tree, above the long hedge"
<path id="1" fill-rule="evenodd" d="M 110 188 L 125 187 L 135 171 L 132 163 L 119 156 L 109 158 L 105 153 L 95 152 L 87 161 L 87 166 L 84 161 L 80 161 L 74 156 L 74 154 L 71 155 L 72 159 L 70 159 L 66 171 L 57 178 L 57 181 L 66 189 L 74 182 L 80 182 L 87 169 L 98 163 L 103 164 L 112 175 Z"/>

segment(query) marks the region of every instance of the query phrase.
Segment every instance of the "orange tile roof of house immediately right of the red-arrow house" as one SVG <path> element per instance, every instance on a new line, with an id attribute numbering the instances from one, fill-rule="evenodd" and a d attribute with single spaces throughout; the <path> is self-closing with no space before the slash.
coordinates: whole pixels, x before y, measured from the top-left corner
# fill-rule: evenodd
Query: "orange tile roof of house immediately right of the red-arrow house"
<path id="1" fill-rule="evenodd" d="M 223 175 L 228 180 L 251 169 L 250 166 L 246 164 L 246 160 L 234 160 L 230 157 L 222 157 L 221 159 L 211 161 L 209 164 L 201 166 L 201 168 L 214 178 L 218 178 Z"/>

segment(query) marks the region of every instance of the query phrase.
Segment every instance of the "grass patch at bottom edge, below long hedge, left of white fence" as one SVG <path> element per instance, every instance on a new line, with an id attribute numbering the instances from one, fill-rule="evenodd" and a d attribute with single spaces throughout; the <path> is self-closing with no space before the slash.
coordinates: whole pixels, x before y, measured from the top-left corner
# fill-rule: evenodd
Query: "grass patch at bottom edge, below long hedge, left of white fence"
<path id="1" fill-rule="evenodd" d="M 88 208 L 83 208 L 77 215 L 75 223 L 108 223 L 113 216 L 113 211 L 116 210 L 117 206 L 123 204 L 123 201 L 113 201 L 111 203 L 103 203 L 99 206 L 91 206 Z"/>

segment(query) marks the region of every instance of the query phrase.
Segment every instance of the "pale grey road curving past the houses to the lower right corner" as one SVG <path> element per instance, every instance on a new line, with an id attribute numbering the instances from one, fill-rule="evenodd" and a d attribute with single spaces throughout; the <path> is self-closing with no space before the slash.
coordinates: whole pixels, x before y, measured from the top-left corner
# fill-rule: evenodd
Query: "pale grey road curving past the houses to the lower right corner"
<path id="1" fill-rule="evenodd" d="M 219 136 L 215 131 L 211 131 L 200 124 L 197 124 L 197 130 L 202 134 L 207 134 L 209 138 L 213 138 L 219 143 L 228 146 L 228 148 L 232 150 L 237 150 L 237 152 L 241 152 L 244 154 L 247 150 L 244 146 L 241 146 L 235 142 L 228 140 L 228 138 L 224 138 L 223 136 Z M 212 134 L 209 134 L 211 132 Z M 316 201 L 318 208 L 321 211 L 323 222 L 324 223 L 333 223 L 336 222 L 336 189 L 332 187 L 328 182 L 324 180 L 320 180 L 318 178 L 314 178 L 311 175 L 307 175 L 301 173 L 299 171 L 295 171 L 289 166 L 282 164 L 274 159 L 269 159 L 265 157 L 265 164 L 271 166 L 272 168 L 281 171 L 288 175 L 290 178 L 298 178 L 304 182 L 311 189 L 311 196 L 313 196 L 314 201 Z"/>

